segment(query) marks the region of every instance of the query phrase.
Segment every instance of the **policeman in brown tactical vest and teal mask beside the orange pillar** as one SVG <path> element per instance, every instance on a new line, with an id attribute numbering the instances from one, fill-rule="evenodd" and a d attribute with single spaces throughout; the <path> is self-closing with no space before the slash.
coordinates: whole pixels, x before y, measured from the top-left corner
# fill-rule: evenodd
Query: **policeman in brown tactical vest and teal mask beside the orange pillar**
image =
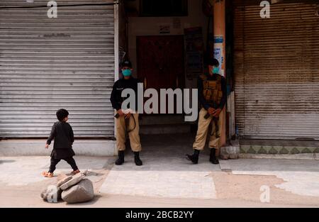
<path id="1" fill-rule="evenodd" d="M 209 135 L 208 148 L 211 149 L 209 161 L 218 164 L 216 149 L 220 148 L 220 130 L 223 126 L 223 107 L 226 103 L 226 81 L 220 76 L 219 62 L 213 59 L 208 62 L 208 74 L 201 74 L 198 77 L 198 100 L 201 104 L 201 111 L 198 117 L 198 130 L 193 145 L 194 154 L 186 155 L 188 160 L 194 164 L 198 163 L 198 155 L 206 143 L 208 128 L 212 125 Z"/>

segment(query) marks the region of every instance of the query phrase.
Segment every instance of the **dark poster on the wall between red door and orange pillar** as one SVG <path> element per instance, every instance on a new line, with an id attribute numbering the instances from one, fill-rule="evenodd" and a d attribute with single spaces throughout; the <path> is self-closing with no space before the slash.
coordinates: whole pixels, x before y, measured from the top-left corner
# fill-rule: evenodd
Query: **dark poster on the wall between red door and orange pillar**
<path id="1" fill-rule="evenodd" d="M 203 32 L 201 27 L 185 28 L 186 77 L 197 78 L 203 73 Z"/>

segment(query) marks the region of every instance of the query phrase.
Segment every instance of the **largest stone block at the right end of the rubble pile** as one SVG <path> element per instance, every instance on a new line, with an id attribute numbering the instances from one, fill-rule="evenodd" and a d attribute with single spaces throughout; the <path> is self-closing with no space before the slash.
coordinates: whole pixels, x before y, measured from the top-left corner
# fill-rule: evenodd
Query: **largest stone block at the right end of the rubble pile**
<path id="1" fill-rule="evenodd" d="M 91 201 L 93 198 L 93 183 L 89 179 L 82 179 L 78 184 L 62 192 L 62 199 L 69 204 Z"/>

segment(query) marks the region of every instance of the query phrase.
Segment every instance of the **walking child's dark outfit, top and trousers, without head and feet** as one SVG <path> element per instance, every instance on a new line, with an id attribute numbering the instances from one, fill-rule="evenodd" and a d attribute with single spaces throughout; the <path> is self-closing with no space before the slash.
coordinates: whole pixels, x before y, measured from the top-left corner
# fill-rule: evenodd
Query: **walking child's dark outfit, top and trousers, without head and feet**
<path id="1" fill-rule="evenodd" d="M 47 138 L 47 144 L 50 145 L 53 139 L 55 141 L 51 152 L 51 165 L 49 172 L 53 172 L 55 170 L 55 165 L 57 165 L 60 160 L 67 161 L 73 170 L 78 170 L 75 160 L 73 159 L 73 156 L 75 155 L 72 149 L 74 135 L 69 123 L 59 121 L 53 124 L 50 137 Z"/>

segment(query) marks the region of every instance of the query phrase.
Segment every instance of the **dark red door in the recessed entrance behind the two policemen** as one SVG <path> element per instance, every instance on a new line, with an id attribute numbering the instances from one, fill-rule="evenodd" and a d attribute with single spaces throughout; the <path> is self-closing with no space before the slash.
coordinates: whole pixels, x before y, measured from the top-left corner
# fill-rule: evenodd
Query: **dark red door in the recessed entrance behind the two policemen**
<path id="1" fill-rule="evenodd" d="M 184 89 L 183 35 L 138 36 L 137 48 L 138 78 L 145 89 L 157 89 L 158 94 L 159 89 Z"/>

